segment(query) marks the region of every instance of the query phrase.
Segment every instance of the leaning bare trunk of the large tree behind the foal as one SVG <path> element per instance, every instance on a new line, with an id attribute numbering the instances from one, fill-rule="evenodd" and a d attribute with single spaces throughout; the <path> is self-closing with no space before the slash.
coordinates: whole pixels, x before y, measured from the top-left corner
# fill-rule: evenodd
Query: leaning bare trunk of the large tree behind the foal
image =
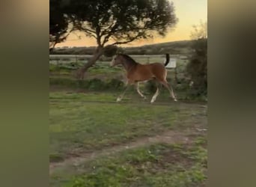
<path id="1" fill-rule="evenodd" d="M 84 79 L 85 72 L 89 69 L 89 67 L 93 66 L 96 63 L 96 61 L 100 58 L 101 55 L 103 55 L 103 47 L 98 46 L 94 52 L 94 55 L 90 58 L 88 63 L 86 63 L 84 67 L 80 68 L 77 71 L 77 78 Z"/>

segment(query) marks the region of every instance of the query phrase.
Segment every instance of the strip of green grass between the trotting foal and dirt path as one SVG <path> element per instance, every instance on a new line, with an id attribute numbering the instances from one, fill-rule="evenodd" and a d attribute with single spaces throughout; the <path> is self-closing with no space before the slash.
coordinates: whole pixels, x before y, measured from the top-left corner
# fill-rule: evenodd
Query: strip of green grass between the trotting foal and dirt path
<path id="1" fill-rule="evenodd" d="M 150 105 L 137 95 L 128 96 L 117 103 L 117 93 L 49 93 L 50 159 L 186 126 L 186 121 L 197 120 L 192 114 L 203 112 L 197 105 L 187 107 L 168 98 L 167 105 Z"/>

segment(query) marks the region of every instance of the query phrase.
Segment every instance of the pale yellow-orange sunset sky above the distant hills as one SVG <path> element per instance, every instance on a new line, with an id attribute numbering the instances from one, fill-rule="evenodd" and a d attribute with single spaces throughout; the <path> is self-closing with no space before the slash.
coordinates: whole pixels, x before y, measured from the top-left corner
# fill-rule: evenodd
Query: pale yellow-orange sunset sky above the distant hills
<path id="1" fill-rule="evenodd" d="M 142 46 L 145 44 L 164 43 L 177 40 L 190 40 L 192 25 L 198 25 L 200 21 L 207 21 L 207 0 L 170 0 L 174 2 L 175 13 L 179 21 L 172 31 L 168 31 L 165 37 L 154 37 L 150 40 L 138 40 L 122 46 Z M 79 39 L 78 36 L 82 36 Z M 62 46 L 96 46 L 94 38 L 85 37 L 82 32 L 70 34 Z"/>

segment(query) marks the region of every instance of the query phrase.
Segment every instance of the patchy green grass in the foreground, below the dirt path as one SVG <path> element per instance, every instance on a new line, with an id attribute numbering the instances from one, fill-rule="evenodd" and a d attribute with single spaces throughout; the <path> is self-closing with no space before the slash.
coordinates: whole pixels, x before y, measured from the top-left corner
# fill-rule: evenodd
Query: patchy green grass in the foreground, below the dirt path
<path id="1" fill-rule="evenodd" d="M 153 144 L 84 162 L 70 170 L 68 175 L 52 174 L 51 186 L 204 186 L 207 150 L 201 144 Z"/>

